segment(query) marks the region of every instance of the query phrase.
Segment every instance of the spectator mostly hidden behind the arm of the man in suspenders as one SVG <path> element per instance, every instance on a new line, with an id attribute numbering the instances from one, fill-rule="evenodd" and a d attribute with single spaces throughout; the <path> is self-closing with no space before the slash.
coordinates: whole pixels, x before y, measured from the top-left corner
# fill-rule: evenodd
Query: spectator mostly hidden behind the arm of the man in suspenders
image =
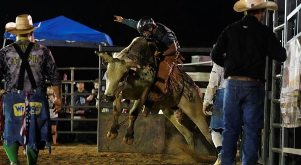
<path id="1" fill-rule="evenodd" d="M 48 102 L 49 102 L 49 113 L 50 113 L 50 125 L 51 125 L 51 131 L 57 131 L 57 125 L 59 124 L 59 121 L 56 120 L 58 118 L 58 114 L 55 113 L 55 109 L 53 107 L 53 102 L 55 100 L 55 95 L 53 92 L 52 87 L 47 87 L 47 94 L 48 94 Z M 54 120 L 53 120 L 54 119 Z M 53 144 L 57 144 L 57 133 L 52 133 L 52 141 Z"/>

